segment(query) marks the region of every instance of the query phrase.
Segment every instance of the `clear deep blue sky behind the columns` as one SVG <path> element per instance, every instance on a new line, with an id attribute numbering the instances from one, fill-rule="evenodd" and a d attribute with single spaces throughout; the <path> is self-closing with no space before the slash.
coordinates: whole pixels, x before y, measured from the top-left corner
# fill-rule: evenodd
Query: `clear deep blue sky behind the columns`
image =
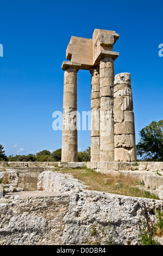
<path id="1" fill-rule="evenodd" d="M 136 142 L 139 131 L 162 119 L 162 1 L 0 0 L 0 144 L 5 153 L 61 148 L 54 111 L 62 111 L 66 48 L 72 35 L 92 38 L 95 28 L 120 35 L 115 75 L 131 73 Z M 91 75 L 78 72 L 78 111 L 90 111 Z M 78 149 L 90 131 L 78 132 Z"/>

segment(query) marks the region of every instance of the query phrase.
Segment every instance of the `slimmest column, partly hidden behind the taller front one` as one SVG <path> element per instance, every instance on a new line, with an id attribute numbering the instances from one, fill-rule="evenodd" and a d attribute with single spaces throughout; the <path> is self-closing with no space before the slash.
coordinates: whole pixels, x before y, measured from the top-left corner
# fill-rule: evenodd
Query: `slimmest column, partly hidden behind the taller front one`
<path id="1" fill-rule="evenodd" d="M 91 68 L 91 162 L 100 161 L 100 133 L 99 133 L 99 67 Z"/>

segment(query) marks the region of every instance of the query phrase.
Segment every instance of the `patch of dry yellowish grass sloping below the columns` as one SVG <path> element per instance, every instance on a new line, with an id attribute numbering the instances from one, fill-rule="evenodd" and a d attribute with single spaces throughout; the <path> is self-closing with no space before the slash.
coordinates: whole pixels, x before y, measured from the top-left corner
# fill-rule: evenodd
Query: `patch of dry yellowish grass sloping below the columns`
<path id="1" fill-rule="evenodd" d="M 84 182 L 89 190 L 123 194 L 132 197 L 159 199 L 155 194 L 142 191 L 139 187 L 136 187 L 137 185 L 141 185 L 141 181 L 129 174 L 102 174 L 87 168 L 62 169 L 61 172 L 71 173 L 74 178 Z"/>

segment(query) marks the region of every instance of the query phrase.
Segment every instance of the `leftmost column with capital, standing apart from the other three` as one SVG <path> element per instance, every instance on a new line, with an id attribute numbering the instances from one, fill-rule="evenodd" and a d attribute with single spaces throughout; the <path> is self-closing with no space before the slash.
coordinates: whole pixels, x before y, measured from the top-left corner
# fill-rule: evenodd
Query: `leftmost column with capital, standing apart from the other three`
<path id="1" fill-rule="evenodd" d="M 62 65 L 64 73 L 62 162 L 78 161 L 77 72 L 71 63 Z"/>

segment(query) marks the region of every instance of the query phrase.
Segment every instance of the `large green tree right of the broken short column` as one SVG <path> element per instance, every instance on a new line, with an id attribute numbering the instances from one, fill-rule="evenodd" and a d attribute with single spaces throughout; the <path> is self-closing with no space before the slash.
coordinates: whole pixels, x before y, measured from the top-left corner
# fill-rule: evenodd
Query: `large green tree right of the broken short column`
<path id="1" fill-rule="evenodd" d="M 163 120 L 152 121 L 140 132 L 137 154 L 148 161 L 163 161 Z"/>

